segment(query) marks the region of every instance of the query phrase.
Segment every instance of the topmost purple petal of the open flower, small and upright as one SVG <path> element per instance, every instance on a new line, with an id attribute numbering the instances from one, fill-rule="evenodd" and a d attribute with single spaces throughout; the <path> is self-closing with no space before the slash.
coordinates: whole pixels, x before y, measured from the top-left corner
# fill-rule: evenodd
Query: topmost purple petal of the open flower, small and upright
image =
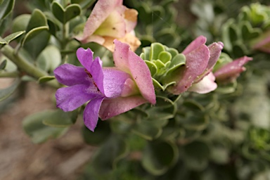
<path id="1" fill-rule="evenodd" d="M 93 63 L 93 52 L 91 49 L 77 49 L 77 58 L 79 63 L 86 68 L 89 72 L 91 71 L 91 64 Z"/>

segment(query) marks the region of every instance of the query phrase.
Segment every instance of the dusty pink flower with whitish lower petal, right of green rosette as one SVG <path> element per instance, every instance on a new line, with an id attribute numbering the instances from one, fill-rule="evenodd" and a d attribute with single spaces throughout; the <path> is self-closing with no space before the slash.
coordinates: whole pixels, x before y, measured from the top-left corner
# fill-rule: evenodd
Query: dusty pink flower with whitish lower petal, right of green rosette
<path id="1" fill-rule="evenodd" d="M 223 44 L 214 42 L 206 46 L 205 42 L 206 38 L 200 36 L 184 49 L 182 53 L 186 56 L 186 65 L 174 77 L 176 85 L 170 86 L 169 92 L 181 94 L 184 91 L 195 91 L 206 94 L 217 88 L 212 69 L 219 59 Z"/>

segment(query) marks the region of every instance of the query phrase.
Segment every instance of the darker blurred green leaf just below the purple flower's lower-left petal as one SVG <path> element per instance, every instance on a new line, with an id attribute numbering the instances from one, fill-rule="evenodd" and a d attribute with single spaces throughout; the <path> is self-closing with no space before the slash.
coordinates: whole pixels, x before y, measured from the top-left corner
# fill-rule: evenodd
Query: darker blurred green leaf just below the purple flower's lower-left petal
<path id="1" fill-rule="evenodd" d="M 68 113 L 60 109 L 48 110 L 42 123 L 49 127 L 70 127 L 72 124 L 75 124 L 77 116 L 77 110 Z"/>

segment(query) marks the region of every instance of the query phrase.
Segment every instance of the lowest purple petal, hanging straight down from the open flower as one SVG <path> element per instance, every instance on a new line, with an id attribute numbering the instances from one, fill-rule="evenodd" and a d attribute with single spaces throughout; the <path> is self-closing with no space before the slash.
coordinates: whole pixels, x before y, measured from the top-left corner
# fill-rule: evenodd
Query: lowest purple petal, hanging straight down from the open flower
<path id="1" fill-rule="evenodd" d="M 104 97 L 92 99 L 84 109 L 84 124 L 91 131 L 94 131 L 98 124 L 98 111 L 103 99 Z"/>

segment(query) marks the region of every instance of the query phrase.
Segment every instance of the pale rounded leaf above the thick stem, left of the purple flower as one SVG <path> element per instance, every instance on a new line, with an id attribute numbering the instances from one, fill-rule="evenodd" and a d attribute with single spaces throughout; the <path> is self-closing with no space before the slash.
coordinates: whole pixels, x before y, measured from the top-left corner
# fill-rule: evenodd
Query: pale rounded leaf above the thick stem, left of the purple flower
<path id="1" fill-rule="evenodd" d="M 53 71 L 61 63 L 61 53 L 56 46 L 49 45 L 37 57 L 37 67 L 45 71 Z"/>

